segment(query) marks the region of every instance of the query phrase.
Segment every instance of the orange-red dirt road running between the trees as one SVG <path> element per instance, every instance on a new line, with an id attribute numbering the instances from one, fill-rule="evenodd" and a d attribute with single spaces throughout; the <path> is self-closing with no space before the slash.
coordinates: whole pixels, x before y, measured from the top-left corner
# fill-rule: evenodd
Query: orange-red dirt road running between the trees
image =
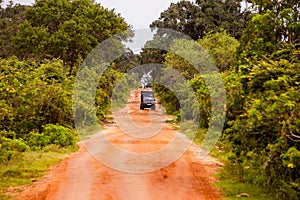
<path id="1" fill-rule="evenodd" d="M 105 131 L 81 142 L 79 152 L 54 166 L 40 181 L 25 187 L 17 199 L 221 199 L 218 189 L 212 186 L 216 181 L 213 174 L 217 163 L 210 157 L 199 160 L 196 145 L 191 145 L 175 162 L 168 164 L 170 157 L 178 153 L 174 148 L 176 144 L 181 145 L 186 140 L 177 141 L 176 131 L 164 123 L 165 116 L 159 108 L 139 110 L 138 91 L 115 119 L 116 124 L 106 126 Z M 135 128 L 128 126 L 128 119 L 132 119 Z M 141 132 L 143 126 L 152 131 Z M 136 157 L 161 152 L 171 141 L 175 141 L 174 147 L 171 145 L 168 152 L 156 154 L 155 162 L 151 156 Z M 123 153 L 115 149 L 122 149 Z"/>

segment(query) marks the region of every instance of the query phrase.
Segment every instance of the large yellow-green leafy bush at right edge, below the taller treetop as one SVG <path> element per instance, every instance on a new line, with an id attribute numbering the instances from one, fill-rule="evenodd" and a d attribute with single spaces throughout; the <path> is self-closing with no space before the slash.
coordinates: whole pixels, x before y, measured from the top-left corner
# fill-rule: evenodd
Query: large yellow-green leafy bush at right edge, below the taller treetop
<path id="1" fill-rule="evenodd" d="M 297 199 L 300 188 L 300 63 L 295 51 L 274 52 L 241 73 L 241 79 L 248 79 L 243 112 L 226 130 L 241 180 L 267 185 L 283 199 Z"/>

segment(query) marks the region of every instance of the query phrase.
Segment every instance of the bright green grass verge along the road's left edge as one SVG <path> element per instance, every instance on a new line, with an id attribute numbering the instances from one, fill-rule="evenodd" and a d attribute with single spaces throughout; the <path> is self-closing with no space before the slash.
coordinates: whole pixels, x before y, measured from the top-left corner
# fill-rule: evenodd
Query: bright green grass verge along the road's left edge
<path id="1" fill-rule="evenodd" d="M 43 151 L 20 153 L 17 158 L 0 163 L 0 199 L 9 198 L 1 191 L 37 181 L 51 166 L 77 149 L 74 146 L 62 149 L 50 145 Z"/>

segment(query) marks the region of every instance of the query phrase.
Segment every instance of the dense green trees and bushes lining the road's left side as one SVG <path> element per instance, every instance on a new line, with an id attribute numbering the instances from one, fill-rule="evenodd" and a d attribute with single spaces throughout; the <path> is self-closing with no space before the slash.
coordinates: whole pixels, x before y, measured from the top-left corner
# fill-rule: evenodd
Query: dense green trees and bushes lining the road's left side
<path id="1" fill-rule="evenodd" d="M 0 8 L 0 17 L 0 163 L 28 150 L 74 146 L 73 68 L 128 25 L 88 0 L 10 3 Z M 109 111 L 115 81 L 122 76 L 123 71 L 117 71 L 121 61 L 100 78 L 94 100 L 100 123 Z M 122 67 L 126 71 L 127 65 Z"/>

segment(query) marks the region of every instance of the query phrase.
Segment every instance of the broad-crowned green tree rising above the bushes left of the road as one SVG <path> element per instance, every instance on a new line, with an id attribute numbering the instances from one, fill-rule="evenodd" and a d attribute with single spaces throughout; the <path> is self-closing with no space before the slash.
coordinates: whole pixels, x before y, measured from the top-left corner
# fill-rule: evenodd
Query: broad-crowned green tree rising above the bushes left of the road
<path id="1" fill-rule="evenodd" d="M 100 42 L 128 29 L 114 11 L 90 0 L 38 0 L 26 17 L 13 38 L 16 55 L 61 58 L 69 73 Z"/>

